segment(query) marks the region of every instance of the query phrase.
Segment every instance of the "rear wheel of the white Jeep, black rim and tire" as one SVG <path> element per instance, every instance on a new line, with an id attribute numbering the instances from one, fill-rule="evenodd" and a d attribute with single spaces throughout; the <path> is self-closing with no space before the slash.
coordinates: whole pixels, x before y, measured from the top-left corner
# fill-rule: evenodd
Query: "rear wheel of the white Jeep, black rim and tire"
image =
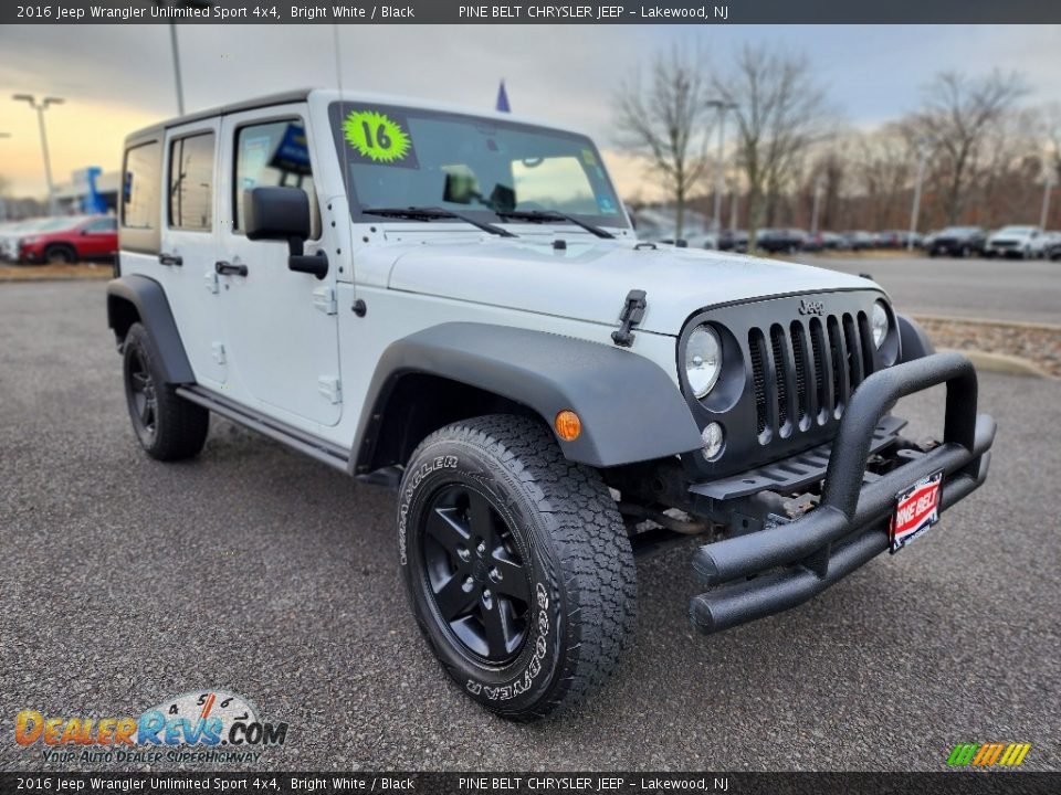
<path id="1" fill-rule="evenodd" d="M 143 325 L 129 327 L 123 357 L 125 399 L 140 447 L 165 462 L 198 455 L 210 430 L 210 412 L 166 383 L 155 342 Z"/>

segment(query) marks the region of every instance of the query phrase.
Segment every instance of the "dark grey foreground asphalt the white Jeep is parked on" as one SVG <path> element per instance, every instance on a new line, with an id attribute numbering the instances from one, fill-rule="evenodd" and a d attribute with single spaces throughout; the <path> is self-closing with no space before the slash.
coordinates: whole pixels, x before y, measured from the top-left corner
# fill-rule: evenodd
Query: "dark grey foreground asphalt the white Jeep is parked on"
<path id="1" fill-rule="evenodd" d="M 983 374 L 988 484 L 803 607 L 704 638 L 694 545 L 642 561 L 611 686 L 514 725 L 421 642 L 388 492 L 216 418 L 192 463 L 139 452 L 103 296 L 0 287 L 2 770 L 48 767 L 14 744 L 19 710 L 138 714 L 204 687 L 290 723 L 265 768 L 939 771 L 970 741 L 1061 767 L 1058 382 Z M 897 413 L 926 435 L 942 394 Z"/>

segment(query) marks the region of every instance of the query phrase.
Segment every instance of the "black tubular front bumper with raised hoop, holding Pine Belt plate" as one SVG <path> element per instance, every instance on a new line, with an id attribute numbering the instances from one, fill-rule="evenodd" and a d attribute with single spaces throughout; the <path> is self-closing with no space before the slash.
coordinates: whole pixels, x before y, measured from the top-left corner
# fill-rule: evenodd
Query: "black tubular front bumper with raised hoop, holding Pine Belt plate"
<path id="1" fill-rule="evenodd" d="M 943 443 L 864 483 L 870 442 L 887 407 L 942 383 L 947 384 Z M 869 377 L 840 423 L 818 507 L 794 522 L 697 550 L 693 571 L 711 590 L 689 605 L 693 626 L 721 632 L 821 593 L 887 549 L 896 495 L 923 477 L 943 470 L 941 510 L 978 488 L 987 477 L 995 421 L 977 415 L 976 393 L 976 371 L 959 353 L 934 353 Z M 773 569 L 779 571 L 761 574 Z M 755 574 L 760 576 L 748 579 Z"/>

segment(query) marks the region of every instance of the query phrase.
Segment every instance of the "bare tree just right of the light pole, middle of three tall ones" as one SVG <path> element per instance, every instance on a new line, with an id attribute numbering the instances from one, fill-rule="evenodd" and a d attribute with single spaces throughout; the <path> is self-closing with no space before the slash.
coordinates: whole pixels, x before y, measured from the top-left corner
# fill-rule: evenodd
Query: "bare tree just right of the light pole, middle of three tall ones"
<path id="1" fill-rule="evenodd" d="M 735 105 L 737 150 L 748 188 L 748 240 L 768 205 L 787 190 L 809 145 L 820 138 L 824 98 L 809 62 L 765 45 L 746 45 L 732 74 L 716 74 L 715 93 Z"/>

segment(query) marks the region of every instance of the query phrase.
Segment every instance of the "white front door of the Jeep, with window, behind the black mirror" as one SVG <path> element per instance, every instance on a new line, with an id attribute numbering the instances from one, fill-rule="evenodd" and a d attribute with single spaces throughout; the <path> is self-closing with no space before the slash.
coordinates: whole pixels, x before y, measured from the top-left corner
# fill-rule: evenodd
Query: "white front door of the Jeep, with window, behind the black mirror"
<path id="1" fill-rule="evenodd" d="M 342 416 L 338 322 L 333 265 L 324 279 L 287 268 L 287 244 L 243 234 L 243 192 L 258 186 L 301 188 L 313 218 L 306 254 L 334 252 L 334 229 L 322 231 L 313 179 L 313 141 L 305 105 L 225 116 L 222 138 L 231 163 L 228 223 L 218 276 L 231 377 L 246 398 L 280 420 L 335 425 Z M 242 275 L 245 273 L 245 275 Z"/>

